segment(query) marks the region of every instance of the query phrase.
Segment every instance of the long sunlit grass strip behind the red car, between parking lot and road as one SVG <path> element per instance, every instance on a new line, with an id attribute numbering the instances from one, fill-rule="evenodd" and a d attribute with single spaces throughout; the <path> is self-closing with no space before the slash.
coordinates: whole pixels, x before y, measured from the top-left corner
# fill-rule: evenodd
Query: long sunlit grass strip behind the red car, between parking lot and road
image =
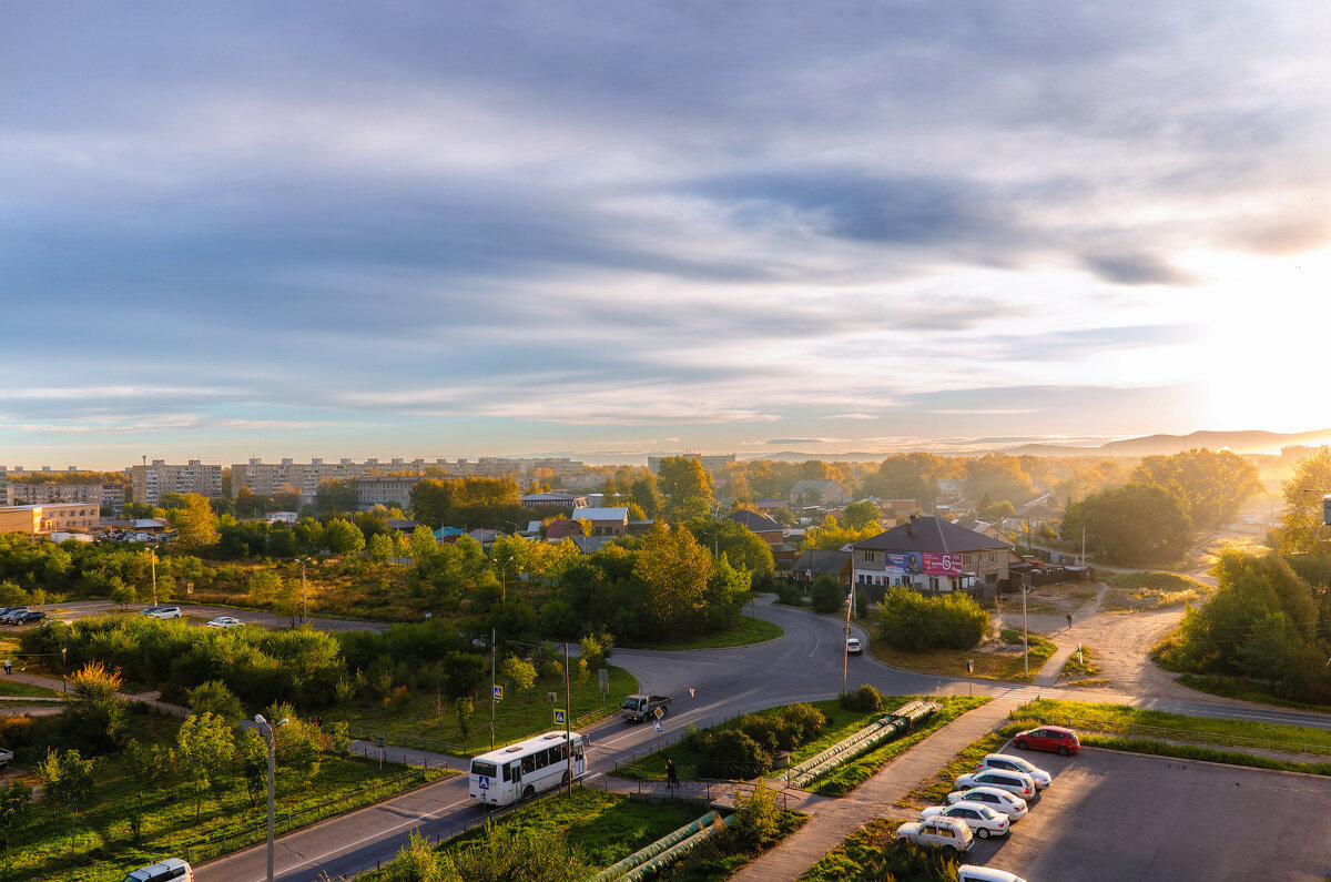
<path id="1" fill-rule="evenodd" d="M 1254 721 L 1185 717 L 1123 705 L 1087 705 L 1044 698 L 1022 705 L 1020 710 L 1013 713 L 1013 725 L 1021 729 L 1040 723 L 1054 723 L 1077 729 L 1078 734 L 1085 730 L 1126 738 L 1331 757 L 1331 730 Z"/>

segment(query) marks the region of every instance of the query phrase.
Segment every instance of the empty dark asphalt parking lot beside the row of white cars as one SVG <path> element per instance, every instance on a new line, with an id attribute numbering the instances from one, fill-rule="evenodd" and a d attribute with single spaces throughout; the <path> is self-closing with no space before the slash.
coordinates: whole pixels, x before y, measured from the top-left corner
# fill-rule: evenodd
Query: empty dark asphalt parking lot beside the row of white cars
<path id="1" fill-rule="evenodd" d="M 1331 778 L 1083 749 L 1008 839 L 966 857 L 1029 882 L 1331 878 Z"/>

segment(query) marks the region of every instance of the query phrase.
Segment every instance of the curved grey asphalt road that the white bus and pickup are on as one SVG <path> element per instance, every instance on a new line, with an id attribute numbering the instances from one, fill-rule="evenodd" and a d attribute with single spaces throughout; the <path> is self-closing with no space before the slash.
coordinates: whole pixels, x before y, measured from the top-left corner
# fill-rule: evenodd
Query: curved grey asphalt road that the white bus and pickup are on
<path id="1" fill-rule="evenodd" d="M 673 697 L 671 713 L 663 721 L 664 741 L 673 741 L 692 723 L 699 729 L 751 710 L 792 701 L 835 697 L 841 691 L 843 620 L 807 610 L 773 606 L 759 601 L 759 618 L 775 622 L 785 634 L 756 646 L 691 652 L 644 652 L 616 649 L 614 663 L 638 677 L 644 690 Z M 858 626 L 852 626 L 868 637 Z M 964 679 L 918 674 L 890 667 L 872 656 L 853 657 L 848 663 L 847 686 L 872 683 L 885 694 L 961 694 Z M 1258 705 L 1181 701 L 1151 695 L 1129 695 L 1105 690 L 1026 686 L 974 681 L 978 695 L 1000 701 L 1030 701 L 1038 695 L 1073 701 L 1129 703 L 1201 717 L 1223 717 L 1284 722 L 1331 729 L 1331 717 L 1307 711 L 1286 711 Z M 590 738 L 587 778 L 614 769 L 616 762 L 655 750 L 658 733 L 652 726 L 630 726 L 606 719 L 582 730 Z M 433 838 L 447 838 L 478 822 L 482 810 L 467 797 L 466 777 L 457 775 L 419 790 L 387 799 L 377 806 L 327 821 L 315 827 L 282 837 L 277 842 L 278 879 L 314 882 L 322 873 L 331 878 L 353 875 L 387 862 L 406 843 L 413 830 Z M 214 861 L 196 869 L 200 882 L 262 882 L 266 870 L 264 846 Z"/>

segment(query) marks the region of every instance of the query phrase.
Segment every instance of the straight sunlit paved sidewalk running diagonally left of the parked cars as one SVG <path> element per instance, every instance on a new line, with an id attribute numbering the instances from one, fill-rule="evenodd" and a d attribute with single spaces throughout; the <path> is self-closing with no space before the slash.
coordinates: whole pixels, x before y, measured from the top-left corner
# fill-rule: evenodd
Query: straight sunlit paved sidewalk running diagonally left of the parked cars
<path id="1" fill-rule="evenodd" d="M 992 701 L 958 717 L 889 762 L 843 799 L 809 803 L 809 821 L 793 835 L 735 874 L 748 882 L 793 882 L 856 830 L 884 814 L 904 814 L 893 803 L 948 765 L 973 741 L 1008 718 L 1012 703 Z"/>

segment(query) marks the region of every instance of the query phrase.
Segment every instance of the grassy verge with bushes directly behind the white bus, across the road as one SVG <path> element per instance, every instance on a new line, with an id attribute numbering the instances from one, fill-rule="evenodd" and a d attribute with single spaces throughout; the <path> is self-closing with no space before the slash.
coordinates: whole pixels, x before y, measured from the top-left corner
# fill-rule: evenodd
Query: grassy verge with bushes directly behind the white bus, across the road
<path id="1" fill-rule="evenodd" d="M 495 702 L 495 745 L 503 745 L 554 729 L 554 707 L 564 707 L 563 678 L 542 677 L 523 691 L 504 686 L 503 701 Z M 488 691 L 490 683 L 486 683 Z M 575 726 L 584 717 L 596 718 L 614 713 L 624 695 L 638 691 L 638 679 L 620 667 L 610 667 L 610 693 L 602 697 L 592 675 L 586 686 L 572 683 L 572 718 Z M 548 694 L 555 693 L 551 706 Z M 357 701 L 322 714 L 323 722 L 350 723 L 355 738 L 383 735 L 389 743 L 419 747 L 437 753 L 474 755 L 490 750 L 490 701 L 475 699 L 475 710 L 469 719 L 469 734 L 462 735 L 458 714 L 451 701 L 439 701 L 433 694 L 406 693 L 401 699 L 379 702 Z"/>

